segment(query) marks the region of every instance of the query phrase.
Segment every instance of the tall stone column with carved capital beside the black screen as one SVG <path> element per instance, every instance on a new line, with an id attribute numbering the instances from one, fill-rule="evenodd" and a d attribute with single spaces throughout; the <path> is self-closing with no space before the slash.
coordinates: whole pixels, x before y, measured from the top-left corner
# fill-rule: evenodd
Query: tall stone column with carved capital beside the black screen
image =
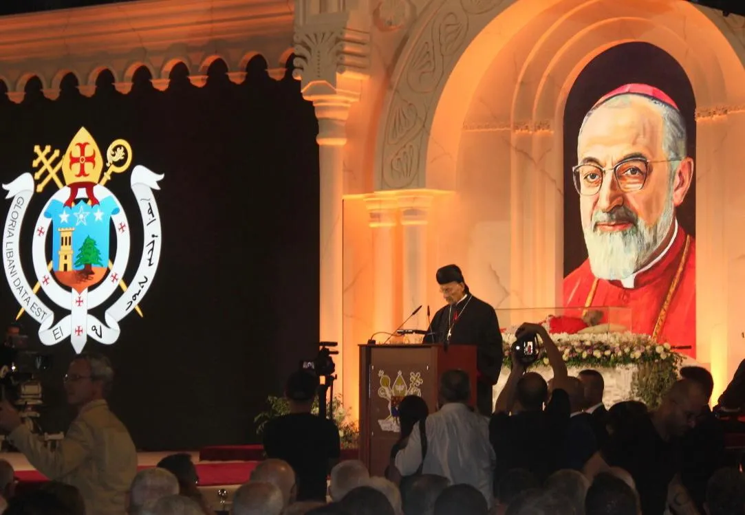
<path id="1" fill-rule="evenodd" d="M 318 118 L 320 159 L 320 341 L 338 342 L 337 376 L 342 394 L 352 394 L 343 345 L 343 152 L 349 107 L 367 78 L 367 32 L 349 28 L 344 13 L 320 12 L 329 4 L 297 1 L 293 76 Z M 355 352 L 350 342 L 349 352 Z M 352 377 L 350 376 L 350 379 Z M 356 381 L 355 381 L 356 382 Z"/>

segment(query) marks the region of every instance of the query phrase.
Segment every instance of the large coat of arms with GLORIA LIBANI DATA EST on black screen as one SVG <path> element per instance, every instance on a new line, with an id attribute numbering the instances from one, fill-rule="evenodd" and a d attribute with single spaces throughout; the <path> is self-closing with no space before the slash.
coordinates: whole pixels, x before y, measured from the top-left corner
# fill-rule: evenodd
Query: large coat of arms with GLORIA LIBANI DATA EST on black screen
<path id="1" fill-rule="evenodd" d="M 163 176 L 142 165 L 130 173 L 143 234 L 139 264 L 127 287 L 124 272 L 130 259 L 130 223 L 106 185 L 113 173 L 129 169 L 130 144 L 122 139 L 112 141 L 102 155 L 92 135 L 81 127 L 61 156 L 59 150 L 51 152 L 48 146 L 37 145 L 34 152 L 37 158 L 32 167 L 37 172 L 22 173 L 3 185 L 10 199 L 3 230 L 3 265 L 10 290 L 21 306 L 19 314 L 25 311 L 39 323 L 39 339 L 44 345 L 69 337 L 79 353 L 89 337 L 112 344 L 119 337 L 121 319 L 133 310 L 142 315 L 139 301 L 153 284 L 162 246 L 153 190 L 160 189 L 158 182 Z M 21 226 L 31 197 L 42 193 L 49 182 L 59 191 L 45 202 L 33 225 L 30 250 L 36 285 L 31 287 L 22 267 L 27 246 L 21 240 Z M 69 313 L 55 323 L 54 310 L 39 297 L 39 289 L 52 304 Z M 103 320 L 99 320 L 91 310 L 106 303 L 118 289 L 122 294 L 105 307 Z"/>

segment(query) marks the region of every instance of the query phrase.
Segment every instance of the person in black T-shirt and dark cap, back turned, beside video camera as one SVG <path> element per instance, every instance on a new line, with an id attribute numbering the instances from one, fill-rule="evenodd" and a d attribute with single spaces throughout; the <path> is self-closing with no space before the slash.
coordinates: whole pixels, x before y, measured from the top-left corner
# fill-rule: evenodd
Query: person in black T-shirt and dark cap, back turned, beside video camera
<path id="1" fill-rule="evenodd" d="M 298 501 L 326 501 L 326 477 L 341 453 L 336 424 L 311 413 L 319 388 L 314 371 L 294 372 L 285 386 L 290 412 L 264 428 L 267 458 L 287 461 L 295 470 Z"/>

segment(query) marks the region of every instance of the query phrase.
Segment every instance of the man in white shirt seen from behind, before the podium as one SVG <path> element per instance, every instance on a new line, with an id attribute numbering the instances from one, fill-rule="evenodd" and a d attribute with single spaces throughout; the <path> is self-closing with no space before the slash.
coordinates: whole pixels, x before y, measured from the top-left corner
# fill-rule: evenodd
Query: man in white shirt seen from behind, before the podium
<path id="1" fill-rule="evenodd" d="M 489 443 L 489 420 L 466 406 L 471 394 L 469 376 L 462 370 L 446 371 L 440 377 L 440 410 L 425 422 L 427 454 L 422 473 L 436 474 L 451 484 L 470 484 L 494 503 L 492 491 L 495 455 Z M 419 423 L 408 444 L 396 455 L 402 476 L 416 473 L 422 464 Z"/>

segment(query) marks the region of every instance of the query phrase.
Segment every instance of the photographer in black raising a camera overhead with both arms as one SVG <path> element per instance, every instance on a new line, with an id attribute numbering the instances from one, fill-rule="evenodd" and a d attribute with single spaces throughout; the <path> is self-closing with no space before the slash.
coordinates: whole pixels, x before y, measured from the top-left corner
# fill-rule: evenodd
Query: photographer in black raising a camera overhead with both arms
<path id="1" fill-rule="evenodd" d="M 516 468 L 530 470 L 544 482 L 559 468 L 569 421 L 568 371 L 548 331 L 542 325 L 526 322 L 515 336 L 510 377 L 489 423 L 489 440 L 496 455 L 495 484 Z M 554 370 L 550 401 L 545 379 L 525 371 L 538 359 L 540 342 Z"/>

